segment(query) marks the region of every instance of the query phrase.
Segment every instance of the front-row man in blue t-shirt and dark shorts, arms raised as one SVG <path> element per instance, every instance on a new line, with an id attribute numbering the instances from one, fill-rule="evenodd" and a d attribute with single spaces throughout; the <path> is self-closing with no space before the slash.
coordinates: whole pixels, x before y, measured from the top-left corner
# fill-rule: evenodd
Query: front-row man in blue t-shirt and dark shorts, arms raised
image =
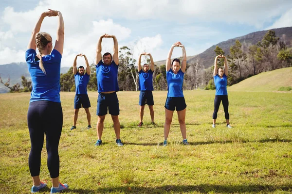
<path id="1" fill-rule="evenodd" d="M 101 60 L 101 42 L 103 38 L 113 39 L 113 55 L 106 52 L 103 55 L 103 61 Z M 111 114 L 113 121 L 113 128 L 116 134 L 116 143 L 118 146 L 123 146 L 120 139 L 120 121 L 119 121 L 119 100 L 116 92 L 119 91 L 118 85 L 118 67 L 119 67 L 119 47 L 117 38 L 114 35 L 104 34 L 99 37 L 96 49 L 96 79 L 98 87 L 98 99 L 97 99 L 97 110 L 96 115 L 98 116 L 96 130 L 98 140 L 95 146 L 102 144 L 101 135 L 104 128 L 104 120 L 106 114 Z"/>

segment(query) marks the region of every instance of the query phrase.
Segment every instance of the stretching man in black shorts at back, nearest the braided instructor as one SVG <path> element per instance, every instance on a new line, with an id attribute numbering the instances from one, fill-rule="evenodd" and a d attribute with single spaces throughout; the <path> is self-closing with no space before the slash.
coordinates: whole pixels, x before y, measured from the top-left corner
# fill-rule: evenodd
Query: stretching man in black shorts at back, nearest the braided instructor
<path id="1" fill-rule="evenodd" d="M 77 57 L 84 57 L 86 63 L 86 73 L 84 73 L 84 67 L 79 66 L 77 71 Z M 71 130 L 76 129 L 76 122 L 78 118 L 79 109 L 84 108 L 87 116 L 88 126 L 87 129 L 91 129 L 90 119 L 91 115 L 89 112 L 90 101 L 87 94 L 87 84 L 90 79 L 90 66 L 85 54 L 77 54 L 73 63 L 73 74 L 75 77 L 75 86 L 76 86 L 76 94 L 74 97 L 74 124 L 71 127 Z"/>

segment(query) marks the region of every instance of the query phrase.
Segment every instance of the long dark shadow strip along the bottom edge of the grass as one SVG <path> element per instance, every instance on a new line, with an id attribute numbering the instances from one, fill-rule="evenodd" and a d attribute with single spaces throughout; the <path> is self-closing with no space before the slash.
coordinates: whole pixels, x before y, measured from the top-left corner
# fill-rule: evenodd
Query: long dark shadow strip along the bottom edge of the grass
<path id="1" fill-rule="evenodd" d="M 68 192 L 78 194 L 93 194 L 93 193 L 127 193 L 127 194 L 150 194 L 150 193 L 181 193 L 181 192 L 199 192 L 199 193 L 250 193 L 250 192 L 274 192 L 276 190 L 292 191 L 292 185 L 265 185 L 265 184 L 250 184 L 250 185 L 165 185 L 160 187 L 111 187 L 111 188 L 98 188 L 97 190 L 89 189 L 69 189 Z"/>

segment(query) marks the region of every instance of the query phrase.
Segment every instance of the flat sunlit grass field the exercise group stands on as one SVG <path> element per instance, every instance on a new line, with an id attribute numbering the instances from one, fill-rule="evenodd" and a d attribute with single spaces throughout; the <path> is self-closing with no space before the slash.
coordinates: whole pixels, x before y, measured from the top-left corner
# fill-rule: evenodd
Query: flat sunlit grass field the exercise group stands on
<path id="1" fill-rule="evenodd" d="M 214 91 L 184 91 L 190 146 L 183 146 L 174 113 L 168 146 L 164 139 L 166 91 L 154 91 L 157 126 L 138 128 L 139 92 L 118 92 L 121 139 L 115 145 L 110 115 L 106 116 L 103 146 L 95 147 L 95 129 L 87 130 L 84 110 L 73 124 L 74 93 L 61 93 L 63 131 L 59 145 L 60 181 L 67 194 L 186 194 L 292 192 L 292 93 L 230 90 L 233 129 L 226 128 L 220 106 L 217 128 L 212 128 Z M 97 121 L 97 92 L 90 92 L 91 125 Z M 30 94 L 0 95 L 0 193 L 30 192 L 30 138 L 26 114 Z M 52 121 L 53 122 L 53 121 Z M 45 143 L 44 143 L 45 146 Z M 42 180 L 48 181 L 47 153 L 42 151 Z M 44 192 L 49 193 L 49 189 Z"/>

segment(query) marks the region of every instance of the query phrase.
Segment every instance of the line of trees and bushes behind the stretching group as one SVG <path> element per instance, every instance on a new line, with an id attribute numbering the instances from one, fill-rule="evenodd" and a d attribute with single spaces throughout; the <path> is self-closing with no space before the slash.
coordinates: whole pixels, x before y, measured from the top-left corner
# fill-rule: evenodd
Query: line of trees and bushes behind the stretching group
<path id="1" fill-rule="evenodd" d="M 286 35 L 282 35 L 282 41 L 279 41 L 279 39 L 275 32 L 270 30 L 256 45 L 241 43 L 236 40 L 234 45 L 230 47 L 230 54 L 227 55 L 229 66 L 228 85 L 236 84 L 264 71 L 292 66 L 292 52 L 287 49 Z M 225 55 L 225 52 L 218 46 L 214 52 L 215 56 L 219 54 Z M 147 63 L 149 64 L 149 59 L 147 59 Z M 139 74 L 135 64 L 136 60 L 131 49 L 128 47 L 120 48 L 118 83 L 121 91 L 137 91 L 139 89 Z M 219 59 L 218 65 L 224 66 L 224 61 Z M 89 91 L 97 91 L 95 64 L 91 64 L 90 68 L 91 75 L 87 89 Z M 205 69 L 198 58 L 188 62 L 184 74 L 183 89 L 215 89 L 213 70 L 214 65 Z M 21 76 L 21 80 L 23 87 L 20 87 L 18 83 L 10 86 L 9 79 L 4 83 L 0 77 L 0 82 L 8 87 L 10 92 L 31 91 L 31 81 L 27 81 L 24 76 Z M 167 90 L 165 65 L 154 65 L 153 87 L 154 90 Z M 60 75 L 60 90 L 75 91 L 73 67 L 67 73 Z"/>

